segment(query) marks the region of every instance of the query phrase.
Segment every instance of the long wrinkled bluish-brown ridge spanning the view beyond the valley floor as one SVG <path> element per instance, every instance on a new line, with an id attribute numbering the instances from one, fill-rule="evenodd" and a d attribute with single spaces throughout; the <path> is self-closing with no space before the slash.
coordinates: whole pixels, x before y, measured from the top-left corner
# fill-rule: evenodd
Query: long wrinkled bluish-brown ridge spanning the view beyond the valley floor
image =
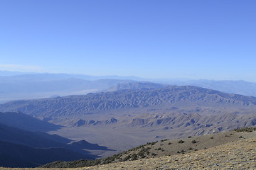
<path id="1" fill-rule="evenodd" d="M 11 101 L 1 104 L 0 111 L 21 111 L 28 115 L 54 118 L 65 115 L 85 115 L 117 108 L 174 107 L 256 108 L 256 98 L 196 86 L 167 86 L 152 90 L 127 90 L 43 98 L 32 101 Z"/>

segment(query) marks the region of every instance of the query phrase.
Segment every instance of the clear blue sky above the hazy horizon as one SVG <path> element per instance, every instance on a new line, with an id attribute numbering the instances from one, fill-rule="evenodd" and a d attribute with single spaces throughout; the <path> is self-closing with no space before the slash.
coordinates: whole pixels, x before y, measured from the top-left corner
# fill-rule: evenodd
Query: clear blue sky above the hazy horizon
<path id="1" fill-rule="evenodd" d="M 256 81 L 255 0 L 0 0 L 0 70 Z"/>

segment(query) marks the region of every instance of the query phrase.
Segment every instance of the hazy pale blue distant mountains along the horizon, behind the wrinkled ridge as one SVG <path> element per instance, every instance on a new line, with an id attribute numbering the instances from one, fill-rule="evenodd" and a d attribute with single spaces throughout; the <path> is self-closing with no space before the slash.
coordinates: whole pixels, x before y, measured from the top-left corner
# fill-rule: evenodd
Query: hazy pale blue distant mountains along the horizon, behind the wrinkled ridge
<path id="1" fill-rule="evenodd" d="M 203 88 L 214 89 L 225 93 L 256 96 L 256 83 L 247 81 L 181 81 L 171 79 L 142 79 L 139 77 L 94 77 L 83 74 L 24 74 L 20 72 L 0 71 L 0 103 L 23 99 L 114 91 L 118 90 L 118 88 L 141 88 L 138 86 L 139 83 L 148 83 L 151 86 L 150 88 L 155 88 L 156 86 L 159 86 L 159 84 L 161 84 L 161 86 L 201 86 Z"/>

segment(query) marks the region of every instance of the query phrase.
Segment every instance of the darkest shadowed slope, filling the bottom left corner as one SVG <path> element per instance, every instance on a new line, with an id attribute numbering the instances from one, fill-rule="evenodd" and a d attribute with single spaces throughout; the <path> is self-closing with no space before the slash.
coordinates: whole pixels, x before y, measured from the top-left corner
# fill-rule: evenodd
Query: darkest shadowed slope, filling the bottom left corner
<path id="1" fill-rule="evenodd" d="M 57 160 L 75 159 L 86 157 L 64 148 L 39 149 L 0 140 L 0 166 L 35 167 Z"/>

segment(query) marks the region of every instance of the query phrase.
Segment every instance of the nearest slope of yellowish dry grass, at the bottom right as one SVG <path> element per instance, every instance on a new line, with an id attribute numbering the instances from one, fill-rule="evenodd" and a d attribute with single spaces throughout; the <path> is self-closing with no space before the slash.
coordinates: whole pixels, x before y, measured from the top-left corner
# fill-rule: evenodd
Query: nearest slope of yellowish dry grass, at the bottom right
<path id="1" fill-rule="evenodd" d="M 7 168 L 1 169 L 10 170 Z M 245 138 L 188 154 L 140 159 L 132 162 L 119 162 L 87 168 L 75 168 L 72 170 L 78 169 L 256 169 L 256 137 Z M 43 169 L 35 168 L 26 170 Z"/>

